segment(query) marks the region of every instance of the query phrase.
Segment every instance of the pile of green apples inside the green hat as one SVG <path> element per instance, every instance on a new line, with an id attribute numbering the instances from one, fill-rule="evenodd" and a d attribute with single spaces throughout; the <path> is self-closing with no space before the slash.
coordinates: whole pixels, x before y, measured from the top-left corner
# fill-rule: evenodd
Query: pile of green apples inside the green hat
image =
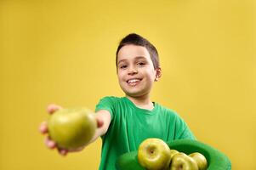
<path id="1" fill-rule="evenodd" d="M 199 152 L 186 155 L 171 150 L 162 139 L 145 139 L 139 144 L 138 161 L 148 170 L 206 170 L 208 161 Z"/>

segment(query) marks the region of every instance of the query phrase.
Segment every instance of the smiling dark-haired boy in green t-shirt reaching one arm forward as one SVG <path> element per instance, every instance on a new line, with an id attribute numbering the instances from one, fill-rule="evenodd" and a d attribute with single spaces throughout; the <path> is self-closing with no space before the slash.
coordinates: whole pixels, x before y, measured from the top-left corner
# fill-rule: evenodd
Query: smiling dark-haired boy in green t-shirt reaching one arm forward
<path id="1" fill-rule="evenodd" d="M 120 42 L 116 53 L 117 77 L 125 97 L 105 97 L 96 105 L 98 128 L 91 140 L 102 139 L 100 169 L 116 169 L 115 162 L 123 153 L 137 150 L 147 138 L 164 141 L 195 139 L 186 123 L 172 110 L 150 99 L 154 82 L 161 77 L 161 68 L 156 48 L 137 34 L 129 34 Z M 53 113 L 60 106 L 49 105 Z M 43 122 L 41 132 L 47 133 Z M 57 144 L 46 139 L 49 148 L 61 150 Z"/>

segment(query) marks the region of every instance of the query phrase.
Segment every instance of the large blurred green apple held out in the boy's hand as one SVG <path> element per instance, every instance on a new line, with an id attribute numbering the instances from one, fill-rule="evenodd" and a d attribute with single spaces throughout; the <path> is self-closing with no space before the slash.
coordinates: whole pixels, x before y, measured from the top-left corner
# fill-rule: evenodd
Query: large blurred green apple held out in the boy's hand
<path id="1" fill-rule="evenodd" d="M 48 120 L 48 133 L 58 147 L 80 148 L 93 138 L 97 122 L 92 111 L 85 108 L 60 109 Z"/>

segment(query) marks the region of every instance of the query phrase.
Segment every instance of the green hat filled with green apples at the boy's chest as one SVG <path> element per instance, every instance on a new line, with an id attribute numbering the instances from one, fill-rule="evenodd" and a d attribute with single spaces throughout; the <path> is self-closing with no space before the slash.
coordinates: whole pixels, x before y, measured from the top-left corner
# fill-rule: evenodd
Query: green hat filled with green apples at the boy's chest
<path id="1" fill-rule="evenodd" d="M 230 159 L 208 144 L 190 139 L 145 139 L 139 150 L 117 159 L 119 170 L 230 170 Z"/>

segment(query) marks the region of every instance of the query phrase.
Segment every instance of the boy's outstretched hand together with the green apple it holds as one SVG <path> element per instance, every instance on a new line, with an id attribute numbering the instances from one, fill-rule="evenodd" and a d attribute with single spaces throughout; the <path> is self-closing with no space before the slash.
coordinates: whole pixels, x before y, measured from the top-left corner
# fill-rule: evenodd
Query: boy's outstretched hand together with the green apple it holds
<path id="1" fill-rule="evenodd" d="M 68 152 L 82 150 L 83 145 L 92 138 L 95 128 L 103 125 L 100 120 L 96 119 L 95 121 L 95 118 L 91 116 L 91 114 L 85 114 L 86 111 L 83 111 L 83 114 L 81 111 L 77 111 L 78 113 L 75 111 L 75 114 L 67 114 L 68 112 L 70 112 L 70 110 L 63 111 L 59 105 L 48 105 L 48 113 L 52 114 L 52 116 L 48 122 L 43 122 L 40 126 L 41 133 L 48 133 L 48 136 L 45 139 L 48 148 L 57 148 L 60 154 L 64 156 Z M 80 125 L 76 125 L 75 122 Z M 88 124 L 90 124 L 91 127 L 87 126 Z M 89 131 L 89 133 L 82 133 L 83 131 Z M 82 139 L 79 139 L 79 135 L 83 135 Z"/>

